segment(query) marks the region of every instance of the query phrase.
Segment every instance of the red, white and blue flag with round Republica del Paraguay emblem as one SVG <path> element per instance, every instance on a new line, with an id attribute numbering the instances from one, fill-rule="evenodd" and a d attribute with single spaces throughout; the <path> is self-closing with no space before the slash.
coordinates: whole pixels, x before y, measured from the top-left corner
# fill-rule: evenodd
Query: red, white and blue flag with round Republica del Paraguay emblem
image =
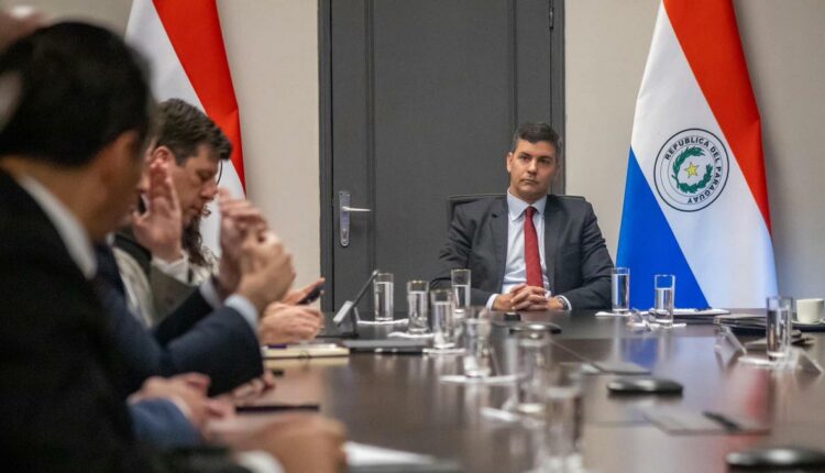
<path id="1" fill-rule="evenodd" d="M 630 304 L 676 275 L 678 307 L 777 294 L 759 110 L 732 0 L 663 0 L 630 140 L 618 265 Z"/>

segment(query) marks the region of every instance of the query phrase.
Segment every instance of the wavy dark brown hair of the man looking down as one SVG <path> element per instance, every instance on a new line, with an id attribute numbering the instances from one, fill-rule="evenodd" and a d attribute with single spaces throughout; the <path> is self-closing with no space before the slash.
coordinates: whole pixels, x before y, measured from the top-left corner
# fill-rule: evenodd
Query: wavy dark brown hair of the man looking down
<path id="1" fill-rule="evenodd" d="M 206 144 L 221 161 L 232 155 L 232 143 L 206 113 L 180 99 L 169 99 L 157 108 L 155 146 L 166 146 L 175 153 L 175 162 L 184 162 Z"/>

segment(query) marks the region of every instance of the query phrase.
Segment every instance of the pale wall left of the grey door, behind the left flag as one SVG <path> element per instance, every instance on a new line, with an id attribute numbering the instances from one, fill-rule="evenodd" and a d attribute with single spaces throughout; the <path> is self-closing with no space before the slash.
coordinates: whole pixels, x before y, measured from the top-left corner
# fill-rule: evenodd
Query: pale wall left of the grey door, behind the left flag
<path id="1" fill-rule="evenodd" d="M 3 3 L 0 3 L 3 4 Z M 131 0 L 13 0 L 123 34 Z M 294 255 L 297 285 L 320 272 L 317 0 L 219 0 L 241 111 L 246 194 Z"/>

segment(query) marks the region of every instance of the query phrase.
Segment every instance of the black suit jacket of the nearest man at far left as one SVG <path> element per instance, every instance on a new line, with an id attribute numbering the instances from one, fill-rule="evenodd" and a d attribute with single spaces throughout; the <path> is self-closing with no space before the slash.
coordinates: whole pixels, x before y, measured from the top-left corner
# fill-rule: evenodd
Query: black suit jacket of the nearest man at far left
<path id="1" fill-rule="evenodd" d="M 0 451 L 9 471 L 152 471 L 91 285 L 0 172 Z"/>

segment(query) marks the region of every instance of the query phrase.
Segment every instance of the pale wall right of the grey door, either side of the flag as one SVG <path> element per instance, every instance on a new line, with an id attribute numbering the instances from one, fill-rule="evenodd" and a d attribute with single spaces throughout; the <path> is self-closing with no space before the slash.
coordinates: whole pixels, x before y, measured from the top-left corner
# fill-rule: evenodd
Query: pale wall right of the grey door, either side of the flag
<path id="1" fill-rule="evenodd" d="M 616 254 L 632 114 L 658 0 L 568 0 L 568 191 L 593 202 Z M 737 0 L 762 117 L 782 294 L 825 295 L 825 2 Z"/>

